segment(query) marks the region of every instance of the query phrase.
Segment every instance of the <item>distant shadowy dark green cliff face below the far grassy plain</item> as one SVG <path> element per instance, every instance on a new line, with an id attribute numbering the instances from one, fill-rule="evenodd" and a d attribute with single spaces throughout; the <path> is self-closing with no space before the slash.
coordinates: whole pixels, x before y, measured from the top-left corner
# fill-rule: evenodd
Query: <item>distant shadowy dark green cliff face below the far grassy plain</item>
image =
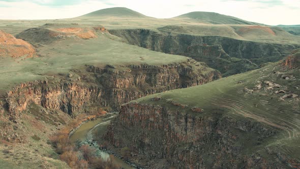
<path id="1" fill-rule="evenodd" d="M 132 45 L 186 55 L 197 61 L 206 62 L 209 67 L 220 70 L 226 76 L 257 69 L 257 65 L 262 63 L 277 62 L 299 47 L 219 36 L 166 34 L 143 29 L 110 30 L 109 33 L 123 38 Z M 227 58 L 222 58 L 224 55 Z M 224 62 L 225 65 L 222 64 Z"/>

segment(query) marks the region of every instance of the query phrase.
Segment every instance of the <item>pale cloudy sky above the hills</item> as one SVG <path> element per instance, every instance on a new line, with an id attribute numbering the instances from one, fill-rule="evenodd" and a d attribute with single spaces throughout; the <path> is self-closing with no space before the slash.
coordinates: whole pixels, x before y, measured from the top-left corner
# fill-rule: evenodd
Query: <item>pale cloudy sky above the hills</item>
<path id="1" fill-rule="evenodd" d="M 156 18 L 205 11 L 268 25 L 300 24 L 300 0 L 0 0 L 0 19 L 61 19 L 112 7 Z"/>

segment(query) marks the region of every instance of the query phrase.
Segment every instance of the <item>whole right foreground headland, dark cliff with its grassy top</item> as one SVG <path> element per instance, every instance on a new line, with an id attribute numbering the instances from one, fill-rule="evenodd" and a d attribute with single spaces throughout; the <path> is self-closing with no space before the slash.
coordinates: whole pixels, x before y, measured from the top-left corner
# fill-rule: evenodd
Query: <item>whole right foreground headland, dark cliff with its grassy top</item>
<path id="1" fill-rule="evenodd" d="M 278 63 L 123 105 L 103 136 L 146 168 L 299 168 L 299 50 Z M 136 156 L 134 156 L 136 154 Z M 168 168 L 168 167 L 166 167 Z"/>

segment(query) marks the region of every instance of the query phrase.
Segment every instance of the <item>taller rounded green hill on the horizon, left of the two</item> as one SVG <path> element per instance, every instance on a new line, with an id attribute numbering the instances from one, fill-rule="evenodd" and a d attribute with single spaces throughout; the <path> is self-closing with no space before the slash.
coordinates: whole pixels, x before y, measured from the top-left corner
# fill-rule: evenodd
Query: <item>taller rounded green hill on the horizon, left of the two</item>
<path id="1" fill-rule="evenodd" d="M 98 11 L 94 11 L 80 17 L 101 17 L 101 16 L 114 16 L 114 17 L 138 17 L 138 18 L 146 18 L 147 16 L 133 11 L 128 8 L 116 7 L 116 8 L 107 8 L 101 9 Z"/>

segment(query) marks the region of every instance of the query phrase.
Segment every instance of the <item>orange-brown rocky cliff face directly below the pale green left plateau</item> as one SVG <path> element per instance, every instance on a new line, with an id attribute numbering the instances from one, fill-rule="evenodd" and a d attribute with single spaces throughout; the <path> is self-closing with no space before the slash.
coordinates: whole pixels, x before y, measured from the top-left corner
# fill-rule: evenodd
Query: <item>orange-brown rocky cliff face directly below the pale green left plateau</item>
<path id="1" fill-rule="evenodd" d="M 149 94 L 201 85 L 220 77 L 218 71 L 193 60 L 164 66 L 88 66 L 85 72 L 75 71 L 62 81 L 23 83 L 8 93 L 6 103 L 15 121 L 31 103 L 75 116 L 98 106 L 118 109 L 123 103 Z"/>

